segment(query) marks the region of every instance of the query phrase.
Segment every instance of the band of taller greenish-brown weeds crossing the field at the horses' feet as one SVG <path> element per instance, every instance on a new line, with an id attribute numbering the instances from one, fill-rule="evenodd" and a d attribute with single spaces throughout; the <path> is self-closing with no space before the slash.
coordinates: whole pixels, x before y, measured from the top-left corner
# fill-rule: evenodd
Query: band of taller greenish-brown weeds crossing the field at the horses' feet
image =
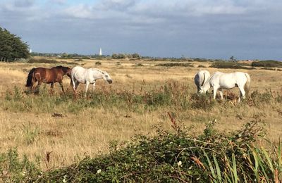
<path id="1" fill-rule="evenodd" d="M 228 100 L 233 99 L 234 94 L 230 93 Z M 266 103 L 281 103 L 282 95 L 279 92 L 254 91 L 243 101 L 243 105 L 261 108 Z M 221 104 L 212 100 L 212 95 L 191 94 L 189 86 L 178 82 L 167 82 L 152 90 L 142 92 L 123 90 L 117 92 L 112 89 L 97 89 L 90 92 L 87 98 L 80 92 L 75 98 L 73 92 L 66 94 L 50 93 L 46 87 L 40 89 L 40 93 L 30 94 L 18 87 L 7 90 L 5 100 L 0 104 L 1 108 L 9 111 L 33 111 L 35 113 L 78 113 L 85 108 L 125 108 L 128 111 L 142 112 L 156 110 L 158 108 L 173 107 L 177 110 L 203 109 L 212 110 L 214 106 Z"/>

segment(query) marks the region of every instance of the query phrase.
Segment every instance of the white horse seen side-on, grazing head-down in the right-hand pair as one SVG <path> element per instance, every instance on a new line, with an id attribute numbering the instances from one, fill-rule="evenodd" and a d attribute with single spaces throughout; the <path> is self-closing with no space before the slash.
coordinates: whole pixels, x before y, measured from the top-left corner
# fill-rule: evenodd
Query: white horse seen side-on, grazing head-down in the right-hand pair
<path id="1" fill-rule="evenodd" d="M 214 99 L 216 99 L 216 90 L 219 89 L 219 94 L 221 99 L 223 99 L 222 89 L 233 89 L 238 87 L 240 89 L 240 98 L 245 99 L 245 94 L 250 90 L 250 75 L 245 72 L 232 72 L 232 73 L 223 73 L 223 72 L 214 72 L 211 77 L 200 87 L 200 93 L 205 93 L 209 90 L 210 87 L 214 88 Z"/>

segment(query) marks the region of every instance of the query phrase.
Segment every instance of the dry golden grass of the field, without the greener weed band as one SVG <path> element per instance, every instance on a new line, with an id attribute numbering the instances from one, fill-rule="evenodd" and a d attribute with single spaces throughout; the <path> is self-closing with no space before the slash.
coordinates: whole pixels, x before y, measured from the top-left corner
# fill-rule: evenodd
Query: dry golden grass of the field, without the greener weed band
<path id="1" fill-rule="evenodd" d="M 70 61 L 72 62 L 72 61 Z M 208 66 L 209 63 L 192 63 L 195 68 L 181 67 L 156 67 L 157 63 L 150 61 L 100 61 L 102 65 L 94 65 L 97 60 L 85 60 L 84 67 L 99 67 L 110 73 L 114 83 L 109 85 L 103 80 L 96 84 L 97 89 L 114 89 L 118 91 L 141 91 L 154 89 L 169 81 L 177 81 L 180 84 L 189 85 L 189 92 L 195 92 L 193 77 L 197 65 Z M 135 66 L 142 63 L 143 66 Z M 52 64 L 30 63 L 0 63 L 0 100 L 5 100 L 7 90 L 13 90 L 17 86 L 21 91 L 25 90 L 27 73 L 34 67 L 52 67 Z M 68 65 L 70 67 L 74 65 Z M 209 72 L 220 70 L 221 72 L 233 72 L 230 69 L 204 68 Z M 264 92 L 265 89 L 282 92 L 282 75 L 274 70 L 240 70 L 248 72 L 252 78 L 252 90 Z M 69 87 L 70 80 L 65 77 L 64 87 Z M 84 91 L 84 84 L 80 84 L 79 90 Z M 60 94 L 59 84 L 55 84 L 54 93 Z M 91 90 L 91 88 L 90 88 Z M 238 89 L 228 91 L 238 94 Z M 227 94 L 228 92 L 225 92 Z M 25 94 L 23 94 L 25 95 Z M 25 97 L 37 97 L 29 95 Z M 44 105 L 44 103 L 42 103 Z M 266 130 L 271 141 L 278 141 L 282 136 L 282 111 L 281 106 L 271 103 L 261 108 L 241 106 L 238 103 L 227 104 L 222 102 L 218 106 L 227 105 L 226 108 L 213 108 L 212 111 L 187 110 L 176 111 L 175 108 L 158 108 L 147 113 L 135 113 L 123 108 L 85 108 L 80 113 L 64 113 L 53 117 L 53 113 L 33 113 L 11 111 L 9 108 L 0 112 L 0 151 L 16 147 L 20 154 L 27 154 L 30 158 L 41 160 L 42 168 L 52 168 L 69 165 L 85 156 L 97 156 L 99 153 L 109 151 L 109 141 L 129 140 L 135 134 L 148 134 L 155 132 L 154 125 L 169 130 L 170 120 L 168 111 L 176 112 L 176 120 L 183 126 L 190 127 L 192 132 L 199 133 L 204 128 L 205 122 L 217 118 L 219 130 L 236 130 L 245 122 L 259 115 L 266 122 Z M 279 112 L 280 110 L 280 112 Z M 193 127 L 191 127 L 191 125 Z M 35 134 L 27 134 L 28 132 Z M 28 144 L 29 136 L 34 136 L 32 143 Z M 46 164 L 45 155 L 50 153 L 50 161 Z"/>

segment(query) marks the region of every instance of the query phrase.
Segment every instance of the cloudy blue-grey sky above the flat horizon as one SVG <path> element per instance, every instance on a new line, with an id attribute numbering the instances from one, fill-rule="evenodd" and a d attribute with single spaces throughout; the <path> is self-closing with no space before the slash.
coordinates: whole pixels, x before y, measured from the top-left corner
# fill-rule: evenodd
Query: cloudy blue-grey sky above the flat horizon
<path id="1" fill-rule="evenodd" d="M 0 0 L 0 27 L 41 53 L 281 61 L 281 9 L 281 0 Z"/>

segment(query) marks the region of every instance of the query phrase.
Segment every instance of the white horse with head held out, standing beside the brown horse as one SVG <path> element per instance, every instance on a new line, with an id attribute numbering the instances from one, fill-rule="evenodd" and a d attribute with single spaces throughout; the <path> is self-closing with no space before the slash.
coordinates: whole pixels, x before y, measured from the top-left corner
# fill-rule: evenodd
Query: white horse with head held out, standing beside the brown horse
<path id="1" fill-rule="evenodd" d="M 89 87 L 89 84 L 92 84 L 94 90 L 96 80 L 102 78 L 105 81 L 109 82 L 109 84 L 113 82 L 108 72 L 99 70 L 97 68 L 85 69 L 80 66 L 75 66 L 74 68 L 71 69 L 71 83 L 73 84 L 73 91 L 75 92 L 75 90 L 78 88 L 78 84 L 84 83 L 86 84 L 85 97 L 87 94 L 87 89 Z"/>

